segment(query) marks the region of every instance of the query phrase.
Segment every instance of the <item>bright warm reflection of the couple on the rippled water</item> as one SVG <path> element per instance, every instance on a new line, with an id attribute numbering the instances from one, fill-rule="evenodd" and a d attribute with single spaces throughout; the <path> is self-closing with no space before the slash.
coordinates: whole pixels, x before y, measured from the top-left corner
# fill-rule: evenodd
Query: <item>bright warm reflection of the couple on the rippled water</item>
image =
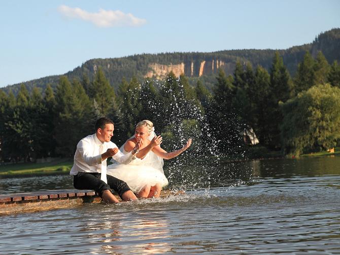
<path id="1" fill-rule="evenodd" d="M 156 202 L 157 204 L 157 202 Z M 143 208 L 131 213 L 131 206 Z M 94 211 L 93 211 L 94 209 Z M 84 216 L 91 213 L 87 219 Z M 167 220 L 157 212 L 145 211 L 145 204 L 127 202 L 122 205 L 84 206 L 80 218 L 81 239 L 90 246 L 91 254 L 164 253 L 170 249 L 164 241 L 169 235 Z M 127 245 L 128 243 L 128 245 Z"/>

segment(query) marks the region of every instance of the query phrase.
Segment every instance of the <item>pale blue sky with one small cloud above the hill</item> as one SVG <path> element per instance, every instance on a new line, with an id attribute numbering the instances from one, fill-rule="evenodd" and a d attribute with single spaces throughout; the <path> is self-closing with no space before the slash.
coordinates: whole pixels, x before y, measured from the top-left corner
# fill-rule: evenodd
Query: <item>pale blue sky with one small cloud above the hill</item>
<path id="1" fill-rule="evenodd" d="M 1 1 L 0 87 L 92 58 L 286 49 L 340 27 L 339 0 Z"/>

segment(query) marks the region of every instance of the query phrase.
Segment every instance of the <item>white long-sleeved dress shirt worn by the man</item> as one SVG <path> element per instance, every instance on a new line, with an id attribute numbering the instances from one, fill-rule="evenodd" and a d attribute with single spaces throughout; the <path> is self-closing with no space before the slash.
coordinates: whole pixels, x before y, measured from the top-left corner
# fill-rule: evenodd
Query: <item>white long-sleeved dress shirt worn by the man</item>
<path id="1" fill-rule="evenodd" d="M 74 157 L 73 167 L 71 168 L 70 174 L 76 175 L 78 172 L 90 172 L 90 173 L 101 173 L 101 154 L 100 145 L 103 145 L 103 151 L 106 152 L 108 149 L 118 148 L 112 141 L 101 142 L 96 134 L 88 135 L 81 139 L 77 144 L 77 150 Z M 128 164 L 133 159 L 132 153 L 124 155 L 121 151 L 118 151 L 112 159 L 119 163 Z"/>

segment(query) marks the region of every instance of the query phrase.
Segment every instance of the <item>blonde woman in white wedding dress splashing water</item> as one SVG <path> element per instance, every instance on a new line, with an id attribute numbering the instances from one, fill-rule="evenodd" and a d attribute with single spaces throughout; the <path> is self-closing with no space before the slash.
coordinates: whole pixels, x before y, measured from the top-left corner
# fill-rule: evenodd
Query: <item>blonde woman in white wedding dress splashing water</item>
<path id="1" fill-rule="evenodd" d="M 168 184 L 163 171 L 163 159 L 172 159 L 183 153 L 191 145 L 191 138 L 179 150 L 166 152 L 160 147 L 162 137 L 156 136 L 153 123 L 148 120 L 139 122 L 134 136 L 120 148 L 123 154 L 134 149 L 141 141 L 142 147 L 137 151 L 137 158 L 129 164 L 113 163 L 108 166 L 108 174 L 125 181 L 139 198 L 159 197 L 162 187 Z"/>

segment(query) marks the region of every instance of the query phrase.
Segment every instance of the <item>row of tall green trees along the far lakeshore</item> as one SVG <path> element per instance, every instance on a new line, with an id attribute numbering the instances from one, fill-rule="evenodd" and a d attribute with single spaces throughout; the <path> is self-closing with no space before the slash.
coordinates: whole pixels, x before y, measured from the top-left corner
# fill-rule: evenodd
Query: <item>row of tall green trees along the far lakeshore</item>
<path id="1" fill-rule="evenodd" d="M 0 90 L 0 112 L 2 161 L 73 157 L 101 116 L 114 121 L 118 146 L 149 119 L 168 150 L 193 137 L 196 153 L 238 154 L 248 148 L 242 130 L 252 128 L 257 147 L 298 156 L 339 143 L 340 65 L 306 52 L 291 77 L 277 52 L 269 71 L 241 61 L 232 75 L 219 69 L 211 90 L 170 72 L 162 81 L 122 79 L 116 91 L 99 67 L 91 80 L 62 76 L 55 90 Z"/>

